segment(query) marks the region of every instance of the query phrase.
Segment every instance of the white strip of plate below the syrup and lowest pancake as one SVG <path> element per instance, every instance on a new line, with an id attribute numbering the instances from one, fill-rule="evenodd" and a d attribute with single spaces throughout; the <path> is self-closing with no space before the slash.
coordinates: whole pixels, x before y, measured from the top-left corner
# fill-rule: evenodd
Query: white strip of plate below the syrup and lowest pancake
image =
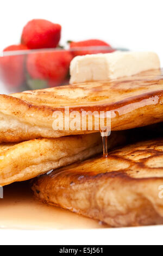
<path id="1" fill-rule="evenodd" d="M 163 227 L 0 230 L 1 245 L 162 245 Z"/>

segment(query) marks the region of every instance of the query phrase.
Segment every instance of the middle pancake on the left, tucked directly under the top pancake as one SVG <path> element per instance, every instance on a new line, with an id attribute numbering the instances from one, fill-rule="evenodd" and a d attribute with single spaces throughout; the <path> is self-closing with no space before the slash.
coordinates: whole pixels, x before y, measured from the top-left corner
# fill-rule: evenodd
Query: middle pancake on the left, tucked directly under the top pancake
<path id="1" fill-rule="evenodd" d="M 100 133 L 0 144 L 0 185 L 32 179 L 101 152 Z"/>

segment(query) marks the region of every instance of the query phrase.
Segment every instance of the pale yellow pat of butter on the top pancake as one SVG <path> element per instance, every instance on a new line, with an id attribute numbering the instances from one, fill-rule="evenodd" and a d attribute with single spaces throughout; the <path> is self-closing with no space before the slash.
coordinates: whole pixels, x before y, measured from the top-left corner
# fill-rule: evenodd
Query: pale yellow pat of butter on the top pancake
<path id="1" fill-rule="evenodd" d="M 139 72 L 159 69 L 154 52 L 114 52 L 75 57 L 70 65 L 70 83 L 116 79 Z"/>

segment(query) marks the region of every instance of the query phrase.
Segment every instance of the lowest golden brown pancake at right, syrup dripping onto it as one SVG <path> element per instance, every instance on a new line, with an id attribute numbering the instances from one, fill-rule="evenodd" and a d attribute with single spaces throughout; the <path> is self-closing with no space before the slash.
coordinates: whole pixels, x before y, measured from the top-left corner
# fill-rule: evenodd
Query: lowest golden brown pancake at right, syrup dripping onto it
<path id="1" fill-rule="evenodd" d="M 112 227 L 163 224 L 163 138 L 59 168 L 36 178 L 33 191 Z"/>

